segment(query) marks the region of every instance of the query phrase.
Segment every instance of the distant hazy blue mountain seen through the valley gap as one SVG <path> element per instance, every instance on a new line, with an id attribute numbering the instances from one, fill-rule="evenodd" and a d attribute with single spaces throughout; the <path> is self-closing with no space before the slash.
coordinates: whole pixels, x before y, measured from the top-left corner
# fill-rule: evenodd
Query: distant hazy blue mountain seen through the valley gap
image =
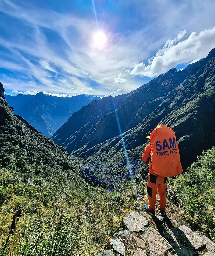
<path id="1" fill-rule="evenodd" d="M 22 116 L 47 137 L 52 134 L 84 105 L 100 98 L 89 95 L 59 98 L 39 92 L 36 95 L 5 95 L 14 113 Z"/>

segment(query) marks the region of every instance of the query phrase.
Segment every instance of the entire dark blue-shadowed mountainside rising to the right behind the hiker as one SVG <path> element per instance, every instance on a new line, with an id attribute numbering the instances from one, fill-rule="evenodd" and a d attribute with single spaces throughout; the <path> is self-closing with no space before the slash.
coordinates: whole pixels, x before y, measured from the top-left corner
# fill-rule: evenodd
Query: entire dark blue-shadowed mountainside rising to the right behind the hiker
<path id="1" fill-rule="evenodd" d="M 176 133 L 183 168 L 214 146 L 215 60 L 209 55 L 184 70 L 175 68 L 127 95 L 94 101 L 52 136 L 67 152 L 96 162 L 141 161 L 146 136 L 163 123 Z M 105 108 L 104 108 L 105 106 Z M 119 128 L 120 125 L 120 128 Z"/>

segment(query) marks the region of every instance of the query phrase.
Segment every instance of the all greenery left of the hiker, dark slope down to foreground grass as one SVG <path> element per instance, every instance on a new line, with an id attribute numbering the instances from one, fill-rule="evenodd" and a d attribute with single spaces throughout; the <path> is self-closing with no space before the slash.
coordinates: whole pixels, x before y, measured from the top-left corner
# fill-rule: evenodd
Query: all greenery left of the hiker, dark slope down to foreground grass
<path id="1" fill-rule="evenodd" d="M 81 178 L 87 163 L 14 115 L 0 85 L 0 254 L 95 255 L 135 208 L 132 187 L 115 188 L 119 203 L 91 186 Z"/>

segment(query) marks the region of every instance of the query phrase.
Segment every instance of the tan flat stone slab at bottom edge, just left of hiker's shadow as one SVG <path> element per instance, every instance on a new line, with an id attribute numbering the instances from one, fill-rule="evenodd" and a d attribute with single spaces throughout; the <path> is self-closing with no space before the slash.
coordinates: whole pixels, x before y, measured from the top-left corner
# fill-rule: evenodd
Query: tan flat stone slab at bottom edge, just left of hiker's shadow
<path id="1" fill-rule="evenodd" d="M 152 227 L 149 229 L 149 249 L 150 256 L 175 255 L 173 247 Z"/>

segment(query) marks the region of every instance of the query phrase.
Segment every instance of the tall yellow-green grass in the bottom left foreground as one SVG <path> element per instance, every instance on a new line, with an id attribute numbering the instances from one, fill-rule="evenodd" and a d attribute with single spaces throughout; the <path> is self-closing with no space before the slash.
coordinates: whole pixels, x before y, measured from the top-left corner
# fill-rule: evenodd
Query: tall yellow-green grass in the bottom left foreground
<path id="1" fill-rule="evenodd" d="M 101 250 L 114 229 L 113 216 L 101 202 L 64 210 L 57 206 L 51 216 L 24 214 L 1 255 L 90 256 Z"/>

